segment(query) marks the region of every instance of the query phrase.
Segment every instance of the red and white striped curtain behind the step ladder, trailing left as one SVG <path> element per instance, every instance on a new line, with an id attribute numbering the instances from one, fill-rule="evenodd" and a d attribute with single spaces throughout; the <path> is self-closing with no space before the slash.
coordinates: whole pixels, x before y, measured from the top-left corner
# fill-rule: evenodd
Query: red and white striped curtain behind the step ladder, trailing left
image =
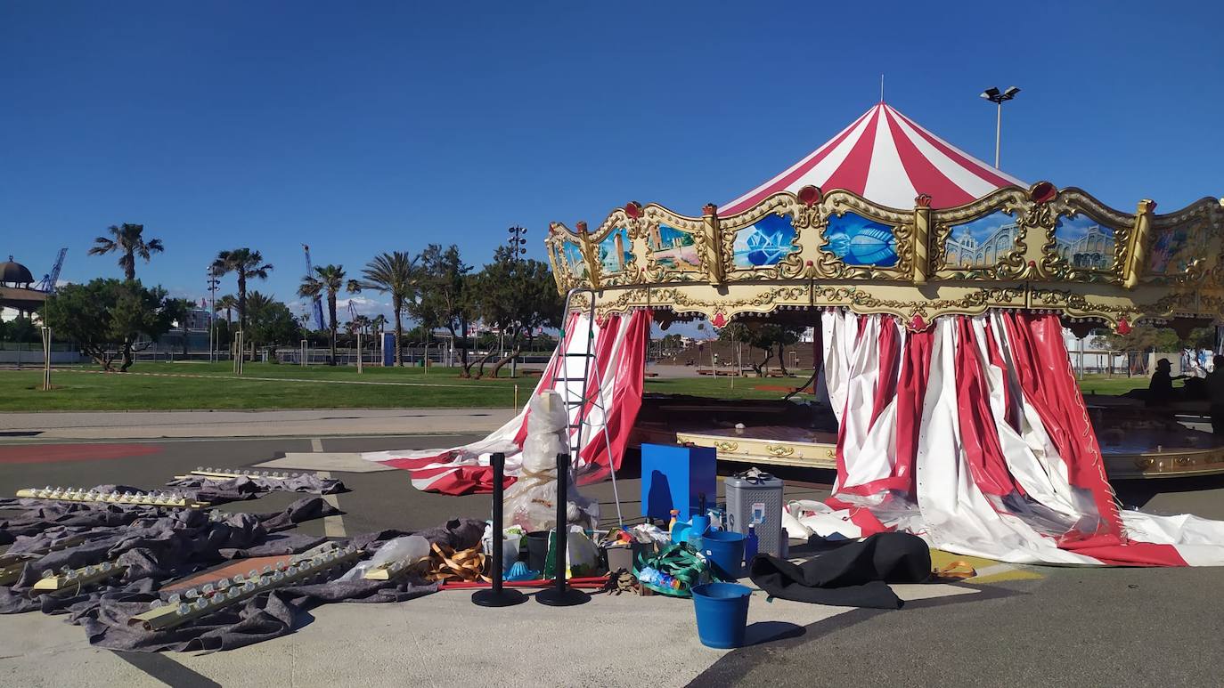
<path id="1" fill-rule="evenodd" d="M 570 314 L 564 339 L 532 392 L 539 395 L 552 390 L 563 400 L 580 400 L 580 380 L 588 373 L 588 393 L 581 415 L 583 448 L 574 468 L 580 485 L 602 480 L 612 468 L 621 466 L 629 433 L 641 407 L 650 320 L 649 310 L 635 310 L 628 315 L 596 318 L 595 326 L 589 328 L 586 314 Z M 594 341 L 588 348 L 588 340 L 591 337 Z M 588 351 L 594 354 L 589 359 L 589 371 L 585 369 L 588 358 L 574 356 Z M 567 353 L 572 356 L 565 356 Z M 513 420 L 483 440 L 461 447 L 370 452 L 364 453 L 362 458 L 411 472 L 412 485 L 419 490 L 448 495 L 488 492 L 493 488 L 493 470 L 488 463 L 493 453 L 506 453 L 506 485 L 513 484 L 519 473 L 523 442 L 528 434 L 528 407 L 524 407 Z M 570 408 L 569 414 L 570 424 L 577 424 L 579 407 Z M 569 431 L 573 434 L 575 430 Z"/>

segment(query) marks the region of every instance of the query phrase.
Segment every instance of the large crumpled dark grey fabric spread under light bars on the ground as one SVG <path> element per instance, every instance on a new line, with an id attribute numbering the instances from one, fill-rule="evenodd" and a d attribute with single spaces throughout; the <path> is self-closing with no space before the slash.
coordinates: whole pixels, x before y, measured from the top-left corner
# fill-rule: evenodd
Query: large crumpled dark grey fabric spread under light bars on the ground
<path id="1" fill-rule="evenodd" d="M 100 485 L 99 491 L 141 491 L 121 485 Z M 186 492 L 186 490 L 180 490 Z M 319 496 L 304 497 L 284 511 L 250 514 L 202 510 L 166 510 L 143 505 L 0 500 L 0 508 L 17 513 L 0 521 L 0 538 L 12 543 L 10 552 L 31 554 L 21 578 L 0 587 L 0 613 L 42 611 L 61 613 L 84 628 L 89 643 L 115 650 L 224 650 L 241 648 L 293 632 L 299 612 L 324 602 L 393 602 L 410 600 L 438 589 L 416 574 L 395 580 L 335 580 L 348 566 L 327 571 L 313 580 L 278 588 L 224 607 L 168 631 L 144 631 L 129 620 L 168 595 L 158 590 L 166 582 L 207 569 L 225 560 L 300 554 L 326 538 L 278 534 L 295 524 L 339 513 Z M 455 519 L 416 534 L 430 543 L 455 549 L 477 545 L 485 523 Z M 366 550 L 367 556 L 384 543 L 408 535 L 383 530 L 355 536 L 344 544 Z M 43 552 L 66 536 L 84 541 Z M 5 541 L 0 539 L 0 541 Z M 31 598 L 42 572 L 77 568 L 102 561 L 127 567 L 102 584 L 78 591 Z"/>

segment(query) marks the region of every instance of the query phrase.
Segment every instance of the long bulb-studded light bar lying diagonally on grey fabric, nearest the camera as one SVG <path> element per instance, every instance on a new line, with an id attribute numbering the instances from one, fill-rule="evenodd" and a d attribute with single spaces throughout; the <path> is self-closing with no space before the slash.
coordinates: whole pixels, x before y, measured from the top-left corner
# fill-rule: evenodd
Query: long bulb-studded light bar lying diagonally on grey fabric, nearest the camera
<path id="1" fill-rule="evenodd" d="M 164 602 L 154 600 L 147 612 L 131 617 L 127 624 L 141 626 L 146 631 L 173 628 L 259 593 L 306 580 L 329 568 L 360 558 L 364 554 L 364 550 L 350 545 L 295 563 L 282 562 L 275 568 L 264 566 L 262 572 L 252 569 L 246 578 L 239 574 L 215 583 L 206 583 L 198 590 L 188 588 L 181 594 L 170 595 Z"/>

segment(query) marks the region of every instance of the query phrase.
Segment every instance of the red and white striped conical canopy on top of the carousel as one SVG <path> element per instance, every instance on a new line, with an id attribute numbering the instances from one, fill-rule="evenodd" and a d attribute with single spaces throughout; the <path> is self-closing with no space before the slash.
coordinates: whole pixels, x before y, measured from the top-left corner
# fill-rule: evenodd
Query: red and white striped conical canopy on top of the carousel
<path id="1" fill-rule="evenodd" d="M 718 208 L 718 214 L 733 215 L 772 193 L 805 186 L 852 191 L 891 208 L 912 208 L 914 197 L 925 193 L 933 208 L 951 208 L 1010 185 L 1028 186 L 880 103 L 781 175 Z"/>

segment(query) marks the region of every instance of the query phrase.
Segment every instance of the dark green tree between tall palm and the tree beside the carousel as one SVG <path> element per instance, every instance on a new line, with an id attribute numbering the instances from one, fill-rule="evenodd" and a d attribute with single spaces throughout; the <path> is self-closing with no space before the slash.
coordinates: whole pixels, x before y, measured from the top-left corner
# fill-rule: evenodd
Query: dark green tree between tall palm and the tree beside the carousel
<path id="1" fill-rule="evenodd" d="M 408 313 L 426 328 L 446 328 L 459 345 L 459 376 L 470 378 L 468 331 L 477 317 L 477 290 L 472 288 L 471 265 L 463 262 L 459 248 L 431 243 L 417 257 L 421 265 L 420 298 L 408 303 Z"/>

